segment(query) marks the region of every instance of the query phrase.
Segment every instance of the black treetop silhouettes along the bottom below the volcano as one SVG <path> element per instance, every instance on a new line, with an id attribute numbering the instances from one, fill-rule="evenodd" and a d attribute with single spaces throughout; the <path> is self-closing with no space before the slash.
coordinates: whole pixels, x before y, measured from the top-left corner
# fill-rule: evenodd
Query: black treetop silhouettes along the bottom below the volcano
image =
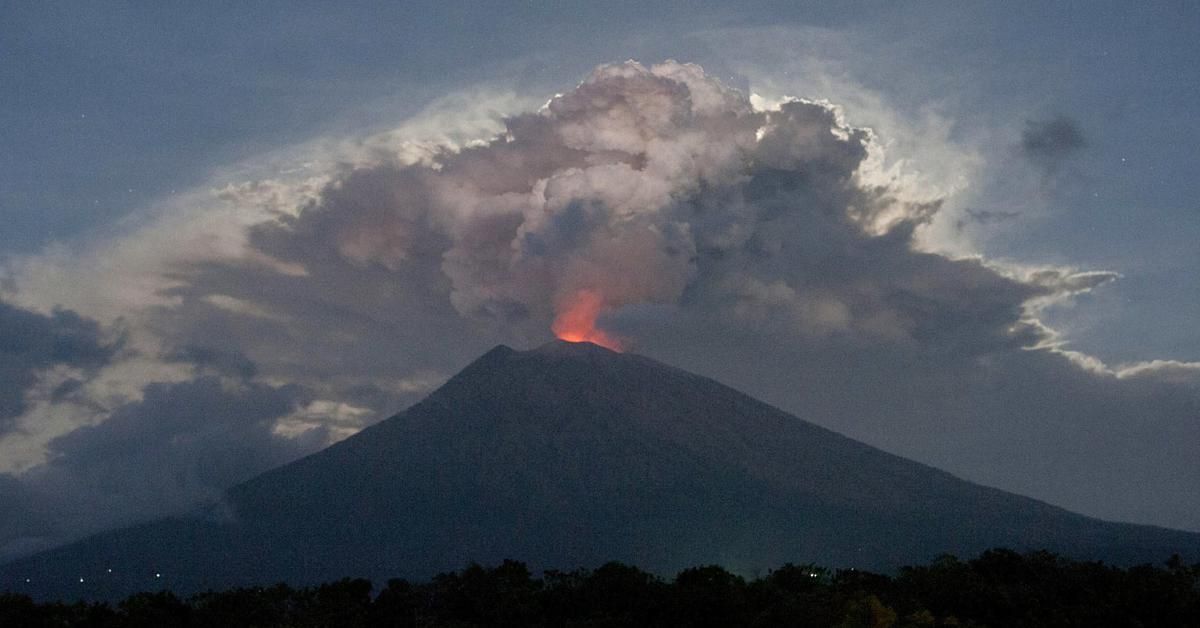
<path id="1" fill-rule="evenodd" d="M 180 599 L 37 604 L 0 593 L 4 627 L 1200 627 L 1200 564 L 1120 569 L 1049 552 L 943 557 L 894 576 L 784 566 L 745 580 L 696 567 L 666 581 L 635 567 L 547 572 L 470 566 L 428 582 L 275 585 Z"/>

